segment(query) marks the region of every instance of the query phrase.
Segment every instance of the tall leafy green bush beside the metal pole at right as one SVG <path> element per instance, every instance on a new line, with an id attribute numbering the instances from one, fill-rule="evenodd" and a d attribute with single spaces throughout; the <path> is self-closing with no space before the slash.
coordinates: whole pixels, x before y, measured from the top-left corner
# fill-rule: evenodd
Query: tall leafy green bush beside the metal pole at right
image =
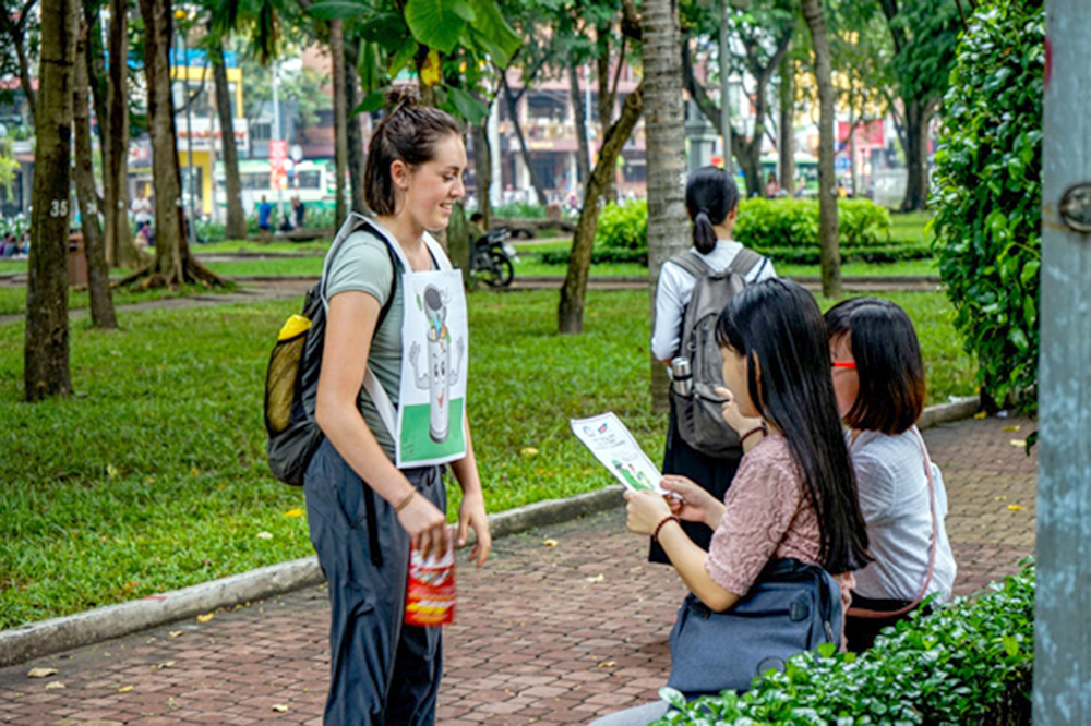
<path id="1" fill-rule="evenodd" d="M 978 10 L 944 99 L 933 176 L 955 326 L 981 361 L 982 390 L 999 401 L 1038 380 L 1044 40 L 1041 0 Z"/>

